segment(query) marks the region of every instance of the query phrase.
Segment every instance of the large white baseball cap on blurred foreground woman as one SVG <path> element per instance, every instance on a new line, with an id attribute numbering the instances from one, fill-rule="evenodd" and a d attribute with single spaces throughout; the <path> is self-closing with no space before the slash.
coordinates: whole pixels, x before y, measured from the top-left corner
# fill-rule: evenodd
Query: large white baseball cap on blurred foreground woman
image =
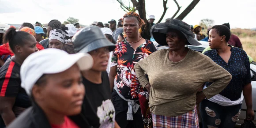
<path id="1" fill-rule="evenodd" d="M 60 49 L 32 53 L 20 69 L 21 87 L 31 95 L 34 84 L 42 75 L 64 72 L 75 63 L 81 71 L 88 70 L 93 66 L 93 58 L 88 53 L 68 54 Z"/>

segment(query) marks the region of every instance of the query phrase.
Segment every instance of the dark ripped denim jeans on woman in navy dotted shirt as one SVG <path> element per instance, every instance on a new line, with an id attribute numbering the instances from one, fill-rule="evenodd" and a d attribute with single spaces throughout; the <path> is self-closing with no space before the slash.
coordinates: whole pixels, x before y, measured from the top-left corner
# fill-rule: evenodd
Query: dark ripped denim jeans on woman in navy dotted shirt
<path id="1" fill-rule="evenodd" d="M 200 106 L 203 128 L 234 128 L 239 119 L 242 104 L 222 106 L 204 99 Z"/>

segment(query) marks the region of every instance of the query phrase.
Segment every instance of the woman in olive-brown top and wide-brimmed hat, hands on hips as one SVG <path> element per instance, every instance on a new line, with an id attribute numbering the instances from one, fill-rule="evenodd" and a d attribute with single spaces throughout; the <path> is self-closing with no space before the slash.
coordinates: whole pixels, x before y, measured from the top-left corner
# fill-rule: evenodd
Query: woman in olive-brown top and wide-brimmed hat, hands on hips
<path id="1" fill-rule="evenodd" d="M 196 103 L 221 92 L 230 82 L 230 73 L 187 47 L 200 45 L 187 23 L 176 19 L 158 23 L 151 35 L 158 44 L 169 46 L 135 64 L 139 82 L 150 91 L 153 127 L 199 128 Z M 198 92 L 209 81 L 214 83 Z"/>

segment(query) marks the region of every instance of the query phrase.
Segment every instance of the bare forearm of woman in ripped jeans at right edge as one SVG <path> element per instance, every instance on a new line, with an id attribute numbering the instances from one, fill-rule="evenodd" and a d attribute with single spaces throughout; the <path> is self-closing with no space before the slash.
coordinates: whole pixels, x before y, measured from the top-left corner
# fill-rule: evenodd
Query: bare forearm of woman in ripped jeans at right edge
<path id="1" fill-rule="evenodd" d="M 252 109 L 252 84 L 245 85 L 243 89 L 247 109 Z"/>

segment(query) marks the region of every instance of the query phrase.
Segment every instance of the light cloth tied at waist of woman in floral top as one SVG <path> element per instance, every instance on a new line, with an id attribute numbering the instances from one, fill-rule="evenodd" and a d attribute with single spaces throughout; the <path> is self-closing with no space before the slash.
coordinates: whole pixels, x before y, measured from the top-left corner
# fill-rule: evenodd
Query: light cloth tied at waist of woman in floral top
<path id="1" fill-rule="evenodd" d="M 116 79 L 115 79 L 115 81 L 116 81 Z M 126 113 L 126 115 L 127 115 L 127 120 L 133 120 L 132 113 L 136 113 L 136 112 L 138 111 L 139 105 L 138 105 L 136 102 L 139 101 L 139 100 L 134 101 L 134 100 L 129 100 L 129 99 L 124 98 L 124 96 L 119 93 L 119 91 L 118 91 L 118 89 L 117 89 L 116 82 L 114 82 L 114 83 L 115 83 L 114 90 L 117 91 L 117 94 L 118 94 L 122 99 L 124 99 L 125 101 L 128 102 L 128 111 L 127 111 L 127 113 Z"/>

